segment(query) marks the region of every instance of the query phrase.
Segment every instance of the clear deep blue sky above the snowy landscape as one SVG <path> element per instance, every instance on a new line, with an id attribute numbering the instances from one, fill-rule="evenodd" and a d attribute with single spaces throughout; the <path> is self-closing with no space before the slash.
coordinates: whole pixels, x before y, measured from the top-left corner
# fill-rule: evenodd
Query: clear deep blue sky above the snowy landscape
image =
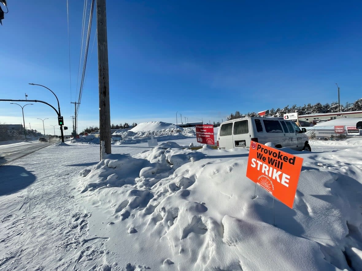
<path id="1" fill-rule="evenodd" d="M 7 2 L 0 26 L 1 99 L 26 93 L 57 107 L 50 91 L 28 83 L 47 86 L 71 128 L 84 3 L 68 0 L 69 63 L 66 0 Z M 217 122 L 236 110 L 331 103 L 338 100 L 335 83 L 341 104 L 362 98 L 361 1 L 277 2 L 107 0 L 111 123 L 176 123 L 177 111 L 183 122 Z M 98 125 L 98 107 L 94 44 L 78 132 Z M 49 133 L 57 124 L 46 105 L 26 106 L 24 113 L 28 128 L 42 130 L 38 118 L 49 118 Z M 0 123 L 22 123 L 21 108 L 1 102 Z"/>

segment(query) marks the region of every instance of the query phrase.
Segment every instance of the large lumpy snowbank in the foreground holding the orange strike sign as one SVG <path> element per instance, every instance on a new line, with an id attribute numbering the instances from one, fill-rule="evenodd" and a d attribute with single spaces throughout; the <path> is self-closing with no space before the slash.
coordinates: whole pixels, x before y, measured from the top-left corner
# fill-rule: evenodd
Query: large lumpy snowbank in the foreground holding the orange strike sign
<path id="1" fill-rule="evenodd" d="M 304 159 L 293 209 L 245 177 L 247 150 L 174 142 L 106 156 L 78 193 L 122 240 L 123 270 L 361 270 L 362 147 L 282 151 Z"/>

